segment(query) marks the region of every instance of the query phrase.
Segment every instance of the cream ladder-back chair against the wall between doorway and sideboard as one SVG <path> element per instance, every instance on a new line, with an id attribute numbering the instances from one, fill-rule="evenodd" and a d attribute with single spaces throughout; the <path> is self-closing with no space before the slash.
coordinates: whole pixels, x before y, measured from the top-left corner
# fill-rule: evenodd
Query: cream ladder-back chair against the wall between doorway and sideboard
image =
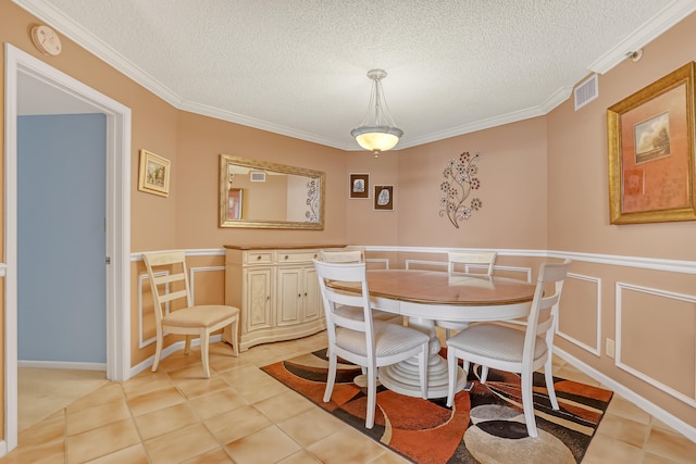
<path id="1" fill-rule="evenodd" d="M 145 267 L 150 278 L 150 288 L 154 301 L 154 319 L 157 323 L 157 348 L 152 372 L 157 371 L 164 343 L 164 333 L 186 335 L 184 352 L 190 352 L 191 336 L 200 337 L 200 354 L 203 363 L 203 375 L 210 378 L 208 363 L 208 347 L 210 334 L 232 326 L 232 346 L 234 355 L 239 355 L 238 325 L 239 309 L 222 304 L 194 305 L 191 302 L 190 287 L 186 256 L 183 251 L 160 251 L 142 253 Z M 158 275 L 160 272 L 171 274 Z M 166 303 L 182 301 L 184 308 L 170 308 L 165 311 Z"/>

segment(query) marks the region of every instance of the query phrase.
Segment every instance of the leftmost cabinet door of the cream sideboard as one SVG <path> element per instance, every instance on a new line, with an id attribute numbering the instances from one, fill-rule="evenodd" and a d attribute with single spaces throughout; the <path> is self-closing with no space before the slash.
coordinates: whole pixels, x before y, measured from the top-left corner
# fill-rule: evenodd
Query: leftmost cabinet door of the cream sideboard
<path id="1" fill-rule="evenodd" d="M 273 268 L 260 267 L 246 269 L 246 304 L 247 314 L 243 317 L 246 333 L 273 326 Z"/>

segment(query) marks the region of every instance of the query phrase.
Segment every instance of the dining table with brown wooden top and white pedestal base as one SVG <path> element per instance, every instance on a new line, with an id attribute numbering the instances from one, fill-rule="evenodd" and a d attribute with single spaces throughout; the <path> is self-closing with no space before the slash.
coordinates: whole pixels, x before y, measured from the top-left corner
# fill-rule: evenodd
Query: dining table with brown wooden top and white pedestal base
<path id="1" fill-rule="evenodd" d="M 334 288 L 359 291 L 335 281 Z M 374 309 L 408 317 L 409 327 L 431 337 L 427 398 L 447 396 L 447 361 L 435 334 L 435 321 L 463 323 L 508 321 L 525 317 L 535 286 L 524 280 L 483 274 L 453 274 L 436 271 L 368 271 L 368 287 Z M 378 378 L 386 388 L 410 397 L 421 397 L 418 359 L 381 367 Z M 460 368 L 457 391 L 465 384 Z"/>

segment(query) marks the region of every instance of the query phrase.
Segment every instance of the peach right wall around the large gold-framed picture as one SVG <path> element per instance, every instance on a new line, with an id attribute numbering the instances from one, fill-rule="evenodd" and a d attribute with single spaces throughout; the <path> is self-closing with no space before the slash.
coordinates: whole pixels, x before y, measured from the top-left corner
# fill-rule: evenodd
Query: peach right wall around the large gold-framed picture
<path id="1" fill-rule="evenodd" d="M 641 61 L 626 60 L 599 76 L 597 100 L 577 112 L 568 100 L 546 117 L 548 249 L 588 253 L 581 258 L 587 262 L 571 268 L 577 276 L 567 283 L 560 329 L 598 354 L 560 337 L 557 344 L 692 427 L 693 406 L 675 397 L 696 398 L 696 304 L 682 297 L 694 298 L 694 275 L 600 264 L 596 258 L 696 260 L 696 222 L 609 224 L 607 148 L 607 108 L 695 61 L 694 42 L 693 14 L 645 47 Z M 616 359 L 605 351 L 607 339 L 621 340 Z"/>

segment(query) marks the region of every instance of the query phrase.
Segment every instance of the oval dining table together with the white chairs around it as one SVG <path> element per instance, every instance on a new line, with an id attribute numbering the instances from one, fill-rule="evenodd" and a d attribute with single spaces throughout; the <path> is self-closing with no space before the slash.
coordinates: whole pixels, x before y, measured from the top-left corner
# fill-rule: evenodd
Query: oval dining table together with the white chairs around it
<path id="1" fill-rule="evenodd" d="M 551 377 L 552 337 L 571 262 L 543 264 L 533 285 L 495 276 L 495 258 L 493 252 L 449 252 L 447 272 L 368 271 L 361 250 L 323 251 L 314 266 L 327 322 L 330 369 L 324 402 L 331 399 L 339 356 L 365 372 L 357 381 L 364 383 L 366 376 L 366 428 L 374 425 L 371 410 L 377 379 L 400 394 L 446 397 L 451 406 L 456 393 L 472 388 L 467 385 L 469 366 L 480 363 L 484 384 L 488 367 L 521 375 L 526 429 L 536 437 L 532 375 L 542 366 L 554 410 L 559 409 Z M 483 272 L 467 272 L 468 265 Z M 397 317 L 386 321 L 385 313 Z M 522 329 L 496 324 L 515 319 L 518 327 L 519 321 L 525 321 Z M 447 329 L 446 358 L 436 326 Z M 457 333 L 450 335 L 452 328 Z"/>

